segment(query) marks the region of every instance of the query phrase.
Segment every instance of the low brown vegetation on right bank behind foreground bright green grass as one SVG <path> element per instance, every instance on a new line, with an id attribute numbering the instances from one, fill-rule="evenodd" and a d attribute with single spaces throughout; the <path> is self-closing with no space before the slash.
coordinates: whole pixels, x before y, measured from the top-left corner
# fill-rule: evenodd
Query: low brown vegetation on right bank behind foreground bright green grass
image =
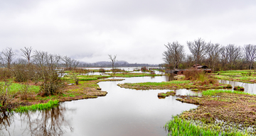
<path id="1" fill-rule="evenodd" d="M 256 125 L 256 96 L 248 94 L 219 93 L 217 96 L 186 96 L 178 101 L 198 104 L 195 110 L 184 112 L 181 117 L 214 123 L 223 120 L 237 125 Z"/>

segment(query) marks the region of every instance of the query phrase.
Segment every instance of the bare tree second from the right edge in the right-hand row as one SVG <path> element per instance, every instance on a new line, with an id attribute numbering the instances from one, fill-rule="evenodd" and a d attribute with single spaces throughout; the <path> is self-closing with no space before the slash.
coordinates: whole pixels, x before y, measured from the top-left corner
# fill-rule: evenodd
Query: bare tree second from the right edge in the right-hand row
<path id="1" fill-rule="evenodd" d="M 237 60 L 240 55 L 241 55 L 241 52 L 240 52 L 240 47 L 237 47 L 235 45 L 227 45 L 225 47 L 225 52 L 226 52 L 226 55 L 227 55 L 227 59 L 228 59 L 228 62 L 230 64 L 230 70 L 232 69 L 232 66 L 233 66 L 233 63 L 235 62 L 235 60 Z"/>

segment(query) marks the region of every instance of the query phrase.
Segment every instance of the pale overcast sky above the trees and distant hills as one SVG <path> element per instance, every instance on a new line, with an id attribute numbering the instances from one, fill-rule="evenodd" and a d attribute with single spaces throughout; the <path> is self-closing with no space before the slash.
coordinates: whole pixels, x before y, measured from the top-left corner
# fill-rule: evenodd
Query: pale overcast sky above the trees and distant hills
<path id="1" fill-rule="evenodd" d="M 256 45 L 255 0 L 0 0 L 0 49 L 160 64 L 168 42 Z"/>

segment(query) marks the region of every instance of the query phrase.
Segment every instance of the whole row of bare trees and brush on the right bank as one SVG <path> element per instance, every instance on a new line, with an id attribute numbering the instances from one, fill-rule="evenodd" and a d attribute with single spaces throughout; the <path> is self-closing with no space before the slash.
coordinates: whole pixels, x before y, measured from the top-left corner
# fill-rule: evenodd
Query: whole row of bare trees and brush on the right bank
<path id="1" fill-rule="evenodd" d="M 213 71 L 232 69 L 254 69 L 256 45 L 243 47 L 228 44 L 206 42 L 202 38 L 187 41 L 186 45 L 191 55 L 186 55 L 184 45 L 178 41 L 164 45 L 167 50 L 163 53 L 166 69 L 188 69 L 193 64 L 207 65 Z"/>

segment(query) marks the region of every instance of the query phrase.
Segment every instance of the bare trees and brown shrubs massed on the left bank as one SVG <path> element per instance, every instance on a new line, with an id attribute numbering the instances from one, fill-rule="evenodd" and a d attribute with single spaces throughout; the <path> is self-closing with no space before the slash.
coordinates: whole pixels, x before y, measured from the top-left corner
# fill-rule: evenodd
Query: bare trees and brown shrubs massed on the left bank
<path id="1" fill-rule="evenodd" d="M 33 51 L 32 47 L 21 49 L 22 57 L 16 59 L 16 54 L 11 47 L 0 52 L 0 104 L 5 106 L 15 94 L 11 94 L 9 79 L 24 84 L 21 94 L 26 99 L 28 82 L 40 85 L 40 95 L 48 96 L 62 93 L 65 84 L 61 77 L 63 72 L 58 72 L 60 67 L 71 70 L 78 67 L 79 62 L 68 56 L 53 55 L 44 51 Z"/>

